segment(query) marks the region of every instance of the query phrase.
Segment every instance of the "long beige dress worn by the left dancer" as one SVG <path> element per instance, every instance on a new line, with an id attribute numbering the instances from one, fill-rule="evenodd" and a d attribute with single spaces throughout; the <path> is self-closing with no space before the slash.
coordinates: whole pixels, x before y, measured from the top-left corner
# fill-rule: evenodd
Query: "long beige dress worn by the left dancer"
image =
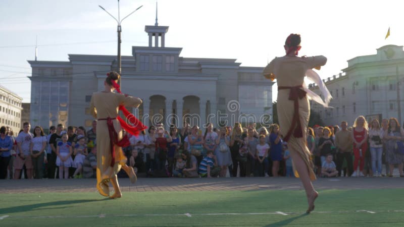
<path id="1" fill-rule="evenodd" d="M 137 97 L 112 92 L 95 92 L 92 94 L 90 111 L 95 119 L 106 119 L 118 117 L 119 105 L 138 107 L 142 101 Z M 121 124 L 117 119 L 113 120 L 115 131 L 118 134 L 118 141 L 122 139 Z M 111 166 L 110 135 L 107 121 L 97 121 L 97 185 L 105 178 L 112 178 L 126 164 L 126 157 L 122 148 L 115 145 L 115 164 Z M 103 178 L 103 179 L 102 179 Z"/>

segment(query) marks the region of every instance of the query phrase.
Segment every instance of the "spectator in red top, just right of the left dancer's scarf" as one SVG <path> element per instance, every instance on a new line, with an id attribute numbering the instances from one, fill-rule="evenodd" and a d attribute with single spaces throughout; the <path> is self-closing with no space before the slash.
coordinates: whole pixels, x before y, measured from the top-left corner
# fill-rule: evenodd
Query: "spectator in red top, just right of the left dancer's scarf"
<path id="1" fill-rule="evenodd" d="M 167 161 L 167 142 L 172 142 L 170 134 L 167 131 L 164 131 L 163 128 L 159 128 L 157 130 L 157 138 L 156 138 L 156 161 L 157 161 L 157 169 L 164 169 L 164 166 Z"/>

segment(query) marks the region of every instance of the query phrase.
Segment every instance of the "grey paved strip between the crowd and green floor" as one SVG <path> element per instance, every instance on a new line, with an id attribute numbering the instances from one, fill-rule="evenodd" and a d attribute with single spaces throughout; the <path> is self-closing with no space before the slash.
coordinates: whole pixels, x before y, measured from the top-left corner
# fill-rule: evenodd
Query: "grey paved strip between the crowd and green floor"
<path id="1" fill-rule="evenodd" d="M 0 193 L 35 192 L 96 192 L 95 179 L 41 179 L 2 180 Z M 138 178 L 132 185 L 128 178 L 120 178 L 125 192 L 164 191 L 253 191 L 253 190 L 303 190 L 296 178 Z M 326 189 L 391 189 L 403 188 L 404 178 L 319 178 L 313 182 L 317 190 Z M 112 190 L 112 188 L 111 188 Z"/>

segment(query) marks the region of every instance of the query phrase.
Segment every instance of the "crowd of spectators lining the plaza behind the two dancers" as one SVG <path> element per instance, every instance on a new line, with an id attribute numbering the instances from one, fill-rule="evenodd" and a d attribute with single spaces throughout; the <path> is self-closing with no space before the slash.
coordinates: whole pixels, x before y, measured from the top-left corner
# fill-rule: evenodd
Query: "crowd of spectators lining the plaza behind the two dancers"
<path id="1" fill-rule="evenodd" d="M 45 135 L 40 126 L 31 133 L 29 123 L 15 137 L 10 128 L 0 128 L 0 179 L 95 178 L 96 121 L 88 131 L 59 124 Z M 315 126 L 307 132 L 318 177 L 392 177 L 394 167 L 403 174 L 404 129 L 395 118 L 374 119 L 370 127 L 359 116 L 352 127 Z M 127 164 L 139 177 L 294 177 L 287 143 L 277 124 L 257 129 L 198 126 L 151 126 L 137 136 L 128 135 L 123 150 Z M 382 164 L 385 171 L 382 171 Z M 127 177 L 120 172 L 118 177 Z"/>

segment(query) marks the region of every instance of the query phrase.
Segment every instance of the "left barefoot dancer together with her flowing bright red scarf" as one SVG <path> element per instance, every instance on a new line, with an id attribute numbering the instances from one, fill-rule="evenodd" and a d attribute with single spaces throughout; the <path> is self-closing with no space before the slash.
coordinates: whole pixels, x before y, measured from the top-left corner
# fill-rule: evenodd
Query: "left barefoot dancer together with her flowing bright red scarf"
<path id="1" fill-rule="evenodd" d="M 132 183 L 136 182 L 136 174 L 132 167 L 126 165 L 126 157 L 122 152 L 122 146 L 128 146 L 129 140 L 123 136 L 122 129 L 137 135 L 146 129 L 124 106 L 138 107 L 142 101 L 140 98 L 119 93 L 117 81 L 120 75 L 116 72 L 107 74 L 104 82 L 105 90 L 95 92 L 91 96 L 90 111 L 98 120 L 96 129 L 97 146 L 97 190 L 103 196 L 109 196 L 109 182 L 114 187 L 114 194 L 110 198 L 122 197 L 119 188 L 117 173 L 121 167 L 127 173 Z M 122 110 L 126 120 L 118 116 Z M 129 122 L 130 124 L 127 124 Z"/>

